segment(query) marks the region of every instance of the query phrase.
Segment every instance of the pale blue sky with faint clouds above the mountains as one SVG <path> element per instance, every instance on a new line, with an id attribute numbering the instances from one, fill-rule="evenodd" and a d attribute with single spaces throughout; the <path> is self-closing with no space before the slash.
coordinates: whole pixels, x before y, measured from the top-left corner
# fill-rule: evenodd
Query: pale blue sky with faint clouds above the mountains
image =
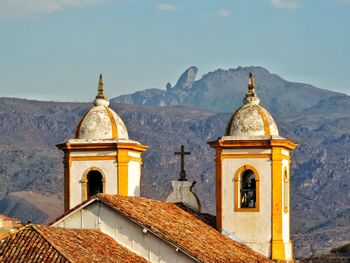
<path id="1" fill-rule="evenodd" d="M 0 0 L 0 96 L 91 101 L 257 65 L 350 94 L 350 0 Z"/>

